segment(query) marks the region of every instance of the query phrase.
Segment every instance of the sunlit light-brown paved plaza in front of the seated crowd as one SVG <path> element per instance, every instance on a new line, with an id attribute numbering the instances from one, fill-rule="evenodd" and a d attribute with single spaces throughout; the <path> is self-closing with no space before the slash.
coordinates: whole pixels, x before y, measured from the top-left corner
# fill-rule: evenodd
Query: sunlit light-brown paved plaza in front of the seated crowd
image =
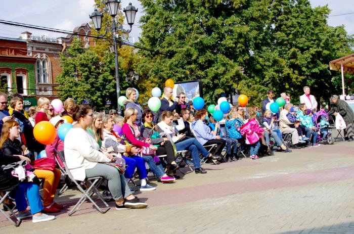
<path id="1" fill-rule="evenodd" d="M 79 197 L 58 199 L 67 209 L 50 222 L 0 216 L 2 233 L 354 233 L 354 142 L 336 142 L 274 156 L 203 165 L 173 184 L 152 181 L 156 191 L 137 192 L 148 209 L 101 214 Z"/>

